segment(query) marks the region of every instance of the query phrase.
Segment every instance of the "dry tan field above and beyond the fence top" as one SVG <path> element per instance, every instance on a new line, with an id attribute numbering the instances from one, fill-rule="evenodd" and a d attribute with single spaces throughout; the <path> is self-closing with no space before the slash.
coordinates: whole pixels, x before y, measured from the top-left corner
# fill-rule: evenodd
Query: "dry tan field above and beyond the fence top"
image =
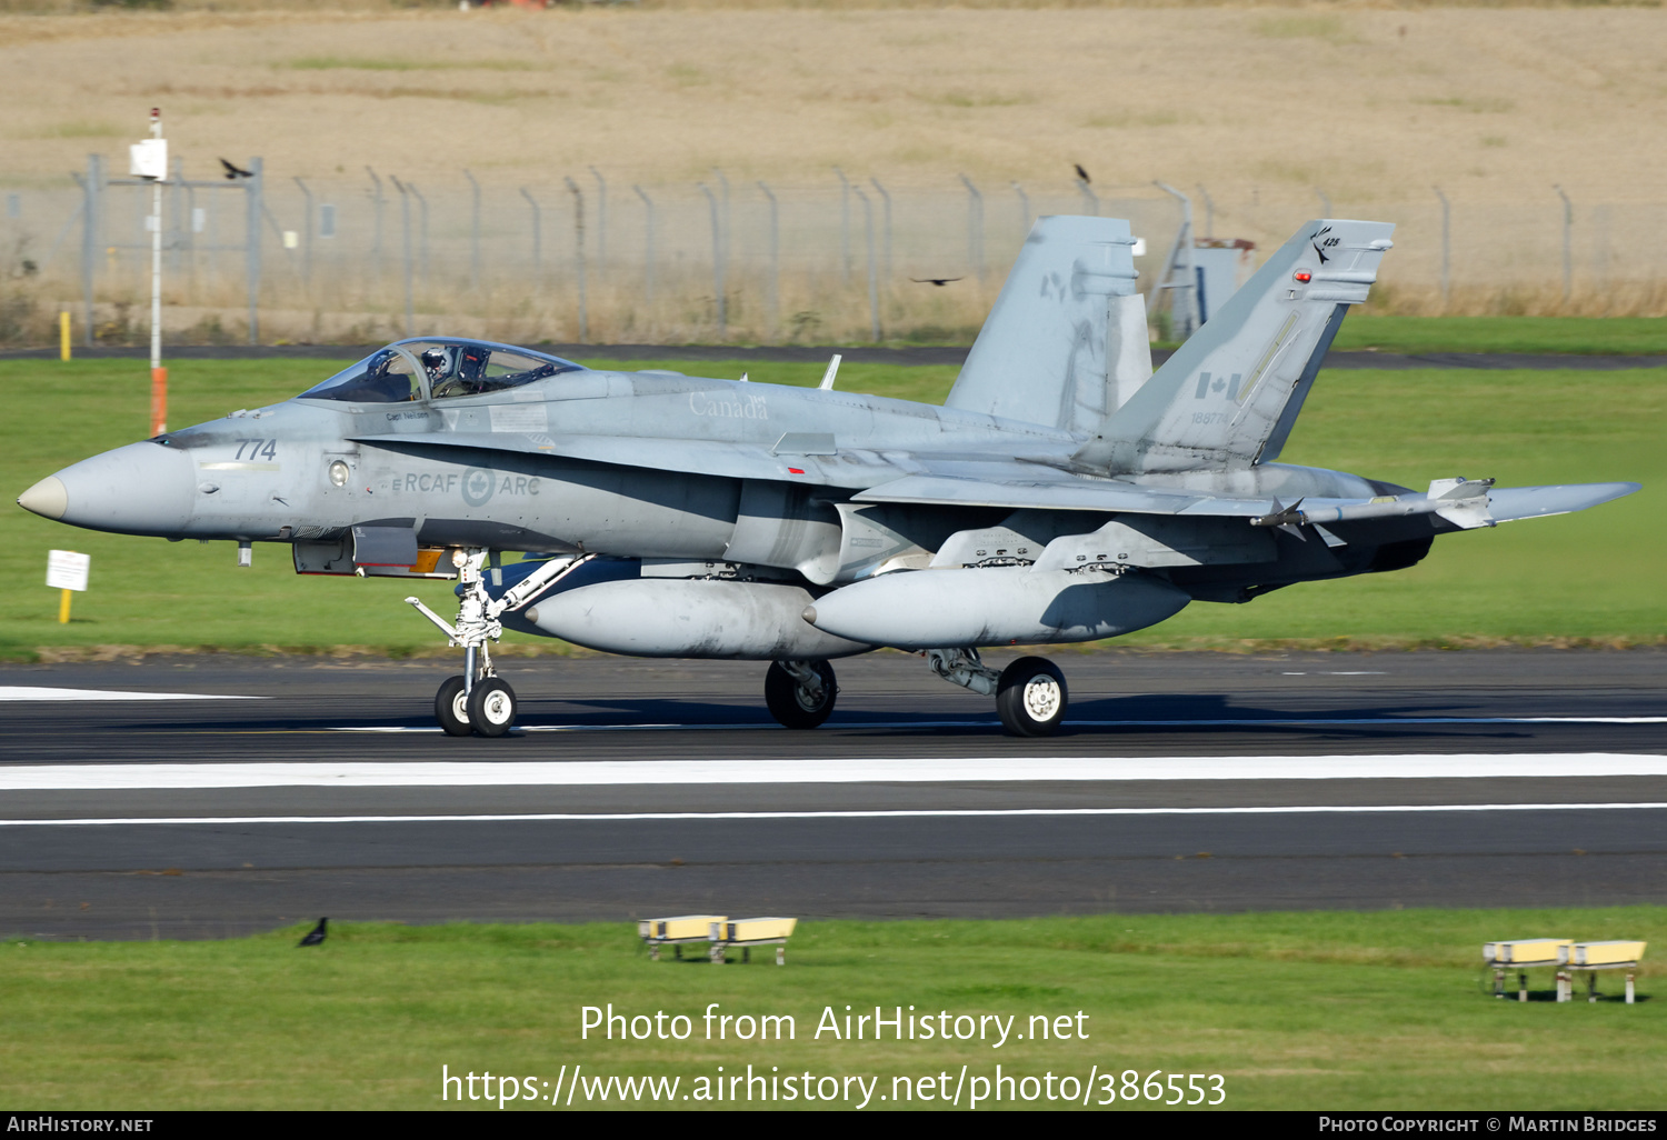
<path id="1" fill-rule="evenodd" d="M 177 12 L 0 17 L 7 182 L 62 182 L 163 103 L 182 153 L 322 177 L 1322 185 L 1657 200 L 1654 8 Z M 102 137 L 100 137 L 102 132 Z M 1312 202 L 1312 195 L 1309 197 Z"/>

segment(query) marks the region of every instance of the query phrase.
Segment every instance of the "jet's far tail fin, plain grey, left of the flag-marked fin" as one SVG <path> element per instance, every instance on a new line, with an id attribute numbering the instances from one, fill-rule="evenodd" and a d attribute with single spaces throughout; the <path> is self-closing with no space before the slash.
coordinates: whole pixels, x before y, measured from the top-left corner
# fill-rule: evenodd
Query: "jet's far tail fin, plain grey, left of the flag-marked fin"
<path id="1" fill-rule="evenodd" d="M 1145 308 L 1130 305 L 1140 300 L 1134 290 L 1127 222 L 1037 220 L 945 405 L 1095 430 L 1120 390 L 1152 372 Z M 1129 333 L 1134 322 L 1139 337 Z"/>

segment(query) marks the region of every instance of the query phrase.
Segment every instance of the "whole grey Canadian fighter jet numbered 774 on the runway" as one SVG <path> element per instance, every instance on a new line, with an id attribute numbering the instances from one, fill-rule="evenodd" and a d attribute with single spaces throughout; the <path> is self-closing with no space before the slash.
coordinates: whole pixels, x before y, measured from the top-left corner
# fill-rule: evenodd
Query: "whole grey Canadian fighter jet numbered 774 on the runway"
<path id="1" fill-rule="evenodd" d="M 77 527 L 288 543 L 298 573 L 457 578 L 445 732 L 502 735 L 505 628 L 638 657 L 772 662 L 810 728 L 830 658 L 924 652 L 1017 735 L 1065 715 L 1059 668 L 979 650 L 1117 637 L 1190 602 L 1400 570 L 1435 535 L 1582 510 L 1637 483 L 1410 490 L 1279 463 L 1394 227 L 1304 225 L 1155 373 L 1129 223 L 1037 222 L 944 407 L 603 372 L 402 340 L 272 407 L 43 478 Z M 505 558 L 507 552 L 520 557 Z"/>

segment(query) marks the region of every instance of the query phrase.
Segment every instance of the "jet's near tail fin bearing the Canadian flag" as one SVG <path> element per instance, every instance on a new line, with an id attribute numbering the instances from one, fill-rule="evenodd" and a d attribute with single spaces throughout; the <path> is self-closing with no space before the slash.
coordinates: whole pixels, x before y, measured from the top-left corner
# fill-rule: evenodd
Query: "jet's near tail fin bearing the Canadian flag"
<path id="1" fill-rule="evenodd" d="M 1225 470 L 1279 457 L 1389 222 L 1309 222 L 1107 417 L 1077 460 L 1117 473 Z"/>

